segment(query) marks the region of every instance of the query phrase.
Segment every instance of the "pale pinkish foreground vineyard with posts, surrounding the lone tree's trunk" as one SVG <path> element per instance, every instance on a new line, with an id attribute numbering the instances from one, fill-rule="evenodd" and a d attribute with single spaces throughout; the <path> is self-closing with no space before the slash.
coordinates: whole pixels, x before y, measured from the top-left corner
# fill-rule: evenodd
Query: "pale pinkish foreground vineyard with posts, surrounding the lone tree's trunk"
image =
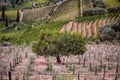
<path id="1" fill-rule="evenodd" d="M 84 55 L 62 56 L 58 64 L 55 57 L 36 56 L 30 47 L 1 47 L 2 79 L 11 69 L 13 80 L 120 80 L 120 45 L 88 44 L 87 49 Z"/>

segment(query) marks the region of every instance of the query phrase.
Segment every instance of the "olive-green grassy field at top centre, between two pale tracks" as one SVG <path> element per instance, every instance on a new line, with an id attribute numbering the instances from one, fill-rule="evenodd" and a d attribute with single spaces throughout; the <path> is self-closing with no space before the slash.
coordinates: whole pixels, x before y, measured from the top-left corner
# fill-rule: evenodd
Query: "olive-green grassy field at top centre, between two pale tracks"
<path id="1" fill-rule="evenodd" d="M 59 20 L 71 20 L 79 16 L 79 0 L 68 0 L 58 7 L 53 13 L 52 19 L 54 21 Z"/>

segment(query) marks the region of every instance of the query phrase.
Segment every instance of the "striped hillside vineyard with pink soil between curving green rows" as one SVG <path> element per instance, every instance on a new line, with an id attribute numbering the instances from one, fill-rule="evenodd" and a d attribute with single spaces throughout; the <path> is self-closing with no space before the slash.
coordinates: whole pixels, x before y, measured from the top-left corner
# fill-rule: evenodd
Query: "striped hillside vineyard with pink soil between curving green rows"
<path id="1" fill-rule="evenodd" d="M 60 32 L 71 31 L 81 33 L 86 38 L 97 37 L 98 27 L 105 25 L 109 22 L 115 22 L 120 20 L 120 14 L 109 14 L 91 17 L 81 17 L 75 21 L 70 21 L 65 24 Z"/>

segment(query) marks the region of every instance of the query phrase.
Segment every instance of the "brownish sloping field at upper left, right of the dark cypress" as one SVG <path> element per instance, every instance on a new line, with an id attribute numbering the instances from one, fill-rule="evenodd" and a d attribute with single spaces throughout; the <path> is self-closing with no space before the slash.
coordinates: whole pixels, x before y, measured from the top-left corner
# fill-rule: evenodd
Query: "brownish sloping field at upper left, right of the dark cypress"
<path id="1" fill-rule="evenodd" d="M 23 11 L 23 22 L 37 21 L 49 17 L 49 13 L 54 9 L 56 5 L 45 6 L 36 9 L 30 9 Z"/>

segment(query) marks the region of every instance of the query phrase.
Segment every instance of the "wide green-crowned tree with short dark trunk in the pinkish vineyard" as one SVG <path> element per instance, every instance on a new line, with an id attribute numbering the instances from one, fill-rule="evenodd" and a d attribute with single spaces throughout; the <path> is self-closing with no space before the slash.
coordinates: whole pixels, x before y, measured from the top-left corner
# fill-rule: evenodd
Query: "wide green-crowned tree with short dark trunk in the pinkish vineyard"
<path id="1" fill-rule="evenodd" d="M 57 63 L 61 63 L 60 56 L 82 55 L 86 51 L 85 44 L 80 34 L 41 32 L 33 51 L 41 56 L 55 56 Z"/>

